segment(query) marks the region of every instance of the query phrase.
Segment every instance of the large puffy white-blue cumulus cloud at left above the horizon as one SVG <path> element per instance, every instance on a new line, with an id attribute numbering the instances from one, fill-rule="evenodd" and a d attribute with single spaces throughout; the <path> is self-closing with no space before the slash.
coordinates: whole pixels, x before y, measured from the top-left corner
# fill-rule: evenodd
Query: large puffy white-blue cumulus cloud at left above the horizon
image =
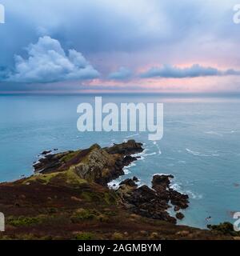
<path id="1" fill-rule="evenodd" d="M 59 82 L 98 78 L 99 73 L 76 50 L 62 49 L 58 40 L 44 36 L 26 48 L 28 58 L 15 56 L 14 72 L 9 82 Z"/>

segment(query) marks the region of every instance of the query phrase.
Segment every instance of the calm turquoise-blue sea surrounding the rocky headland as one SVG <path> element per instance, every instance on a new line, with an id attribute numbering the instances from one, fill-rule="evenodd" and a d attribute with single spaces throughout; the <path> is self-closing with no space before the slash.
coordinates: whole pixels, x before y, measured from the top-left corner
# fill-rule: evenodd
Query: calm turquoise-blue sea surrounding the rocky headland
<path id="1" fill-rule="evenodd" d="M 232 213 L 240 211 L 240 98 L 103 96 L 104 102 L 163 102 L 164 137 L 158 142 L 148 141 L 146 133 L 78 132 L 77 106 L 93 101 L 94 95 L 0 96 L 0 181 L 32 174 L 42 150 L 74 150 L 95 142 L 109 146 L 134 138 L 146 150 L 126 176 L 150 184 L 153 174 L 174 174 L 173 186 L 190 194 L 186 218 L 179 223 L 233 222 Z"/>

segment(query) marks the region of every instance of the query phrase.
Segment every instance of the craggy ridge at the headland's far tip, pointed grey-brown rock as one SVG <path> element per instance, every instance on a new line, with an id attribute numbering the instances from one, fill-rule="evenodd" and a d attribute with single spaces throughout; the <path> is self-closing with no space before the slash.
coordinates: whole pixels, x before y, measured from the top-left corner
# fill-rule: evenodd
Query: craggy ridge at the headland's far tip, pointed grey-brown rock
<path id="1" fill-rule="evenodd" d="M 49 174 L 74 169 L 80 178 L 106 185 L 124 174 L 123 167 L 138 158 L 130 154 L 142 152 L 142 143 L 134 140 L 102 148 L 94 144 L 89 149 L 46 154 L 34 164 L 36 172 Z"/>

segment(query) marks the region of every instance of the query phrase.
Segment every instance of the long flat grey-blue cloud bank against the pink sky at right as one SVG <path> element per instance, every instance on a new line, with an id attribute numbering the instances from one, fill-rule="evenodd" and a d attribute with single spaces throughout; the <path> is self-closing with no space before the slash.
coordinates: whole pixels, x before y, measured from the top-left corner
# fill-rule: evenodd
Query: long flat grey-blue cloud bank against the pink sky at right
<path id="1" fill-rule="evenodd" d="M 238 70 L 218 70 L 214 67 L 205 67 L 194 64 L 190 67 L 179 68 L 177 66 L 164 65 L 152 67 L 141 74 L 142 78 L 198 78 L 207 76 L 240 75 Z"/>

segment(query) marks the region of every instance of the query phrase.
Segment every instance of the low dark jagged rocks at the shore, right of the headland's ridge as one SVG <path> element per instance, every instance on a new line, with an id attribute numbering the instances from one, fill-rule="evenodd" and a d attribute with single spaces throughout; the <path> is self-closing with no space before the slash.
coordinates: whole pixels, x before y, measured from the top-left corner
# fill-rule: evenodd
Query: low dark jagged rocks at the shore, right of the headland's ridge
<path id="1" fill-rule="evenodd" d="M 176 219 L 166 211 L 170 208 L 169 202 L 178 207 L 179 210 L 185 209 L 189 202 L 186 194 L 181 194 L 170 188 L 171 178 L 174 176 L 154 175 L 153 189 L 146 185 L 137 187 L 134 180 L 128 178 L 119 184 L 118 194 L 126 203 L 126 207 L 132 210 L 134 214 L 176 223 Z M 182 219 L 184 215 L 177 213 L 176 218 Z"/>

